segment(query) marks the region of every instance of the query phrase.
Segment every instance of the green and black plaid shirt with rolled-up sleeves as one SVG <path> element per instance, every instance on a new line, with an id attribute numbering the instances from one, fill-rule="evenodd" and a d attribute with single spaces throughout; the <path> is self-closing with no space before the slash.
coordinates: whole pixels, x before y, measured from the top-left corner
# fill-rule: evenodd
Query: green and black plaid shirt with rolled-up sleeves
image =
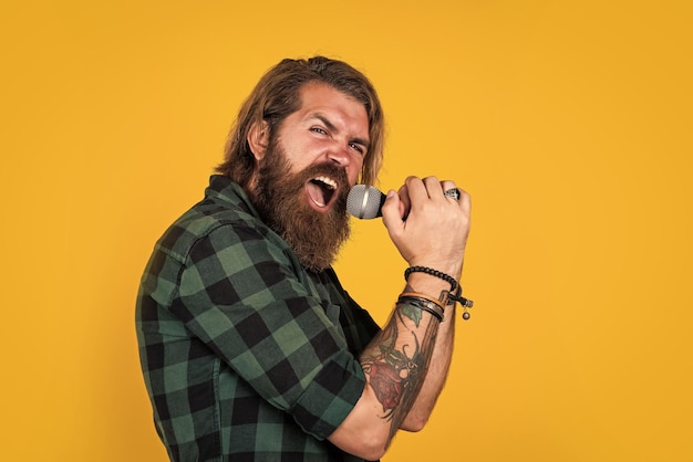
<path id="1" fill-rule="evenodd" d="M 351 461 L 325 440 L 379 330 L 330 269 L 306 271 L 242 189 L 213 176 L 159 239 L 136 309 L 156 429 L 175 461 Z"/>

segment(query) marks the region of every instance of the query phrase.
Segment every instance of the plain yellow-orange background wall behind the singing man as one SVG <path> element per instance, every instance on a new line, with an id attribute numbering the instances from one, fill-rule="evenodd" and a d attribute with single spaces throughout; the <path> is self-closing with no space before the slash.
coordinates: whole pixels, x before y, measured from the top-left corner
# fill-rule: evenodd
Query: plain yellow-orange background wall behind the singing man
<path id="1" fill-rule="evenodd" d="M 0 459 L 166 460 L 141 272 L 259 76 L 324 53 L 379 88 L 383 188 L 474 202 L 472 319 L 385 461 L 693 461 L 691 2 L 7 3 Z M 404 267 L 380 221 L 338 263 L 381 322 Z"/>

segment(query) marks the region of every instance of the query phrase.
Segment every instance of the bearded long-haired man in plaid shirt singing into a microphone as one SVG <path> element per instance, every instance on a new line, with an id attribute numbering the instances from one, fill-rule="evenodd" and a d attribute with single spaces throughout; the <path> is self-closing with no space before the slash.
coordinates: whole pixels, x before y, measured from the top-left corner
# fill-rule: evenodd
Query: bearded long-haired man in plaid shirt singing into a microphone
<path id="1" fill-rule="evenodd" d="M 382 207 L 408 263 L 381 330 L 331 263 L 372 183 L 383 115 L 348 64 L 285 60 L 258 83 L 203 201 L 159 239 L 137 300 L 156 429 L 175 461 L 376 460 L 426 422 L 451 363 L 469 198 L 410 177 Z"/>

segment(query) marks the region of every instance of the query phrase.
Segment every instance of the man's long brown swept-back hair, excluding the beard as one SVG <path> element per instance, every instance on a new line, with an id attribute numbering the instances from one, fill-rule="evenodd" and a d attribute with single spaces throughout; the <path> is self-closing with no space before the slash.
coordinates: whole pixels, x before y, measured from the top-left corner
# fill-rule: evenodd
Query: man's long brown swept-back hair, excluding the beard
<path id="1" fill-rule="evenodd" d="M 217 172 L 247 188 L 256 169 L 248 133 L 265 120 L 270 135 L 283 119 L 300 108 L 300 88 L 320 82 L 363 103 L 369 118 L 370 147 L 363 159 L 360 182 L 373 185 L 383 160 L 384 118 L 375 88 L 365 75 L 349 64 L 324 56 L 286 59 L 260 78 L 238 113 L 225 147 L 225 160 Z"/>

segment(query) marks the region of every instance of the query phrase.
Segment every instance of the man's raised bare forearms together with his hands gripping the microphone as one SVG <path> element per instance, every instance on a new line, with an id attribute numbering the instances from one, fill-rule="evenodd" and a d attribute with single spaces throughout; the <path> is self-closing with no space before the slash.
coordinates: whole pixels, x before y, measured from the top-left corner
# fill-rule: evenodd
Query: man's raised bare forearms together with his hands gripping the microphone
<path id="1" fill-rule="evenodd" d="M 469 230 L 469 197 L 464 191 L 459 200 L 444 196 L 449 188 L 452 181 L 410 177 L 382 207 L 390 238 L 407 264 L 418 267 L 407 272 L 407 294 L 359 358 L 366 380 L 363 393 L 329 437 L 364 459 L 382 456 L 397 429 L 420 429 L 447 376 L 454 307 L 438 300 L 462 275 Z"/>

